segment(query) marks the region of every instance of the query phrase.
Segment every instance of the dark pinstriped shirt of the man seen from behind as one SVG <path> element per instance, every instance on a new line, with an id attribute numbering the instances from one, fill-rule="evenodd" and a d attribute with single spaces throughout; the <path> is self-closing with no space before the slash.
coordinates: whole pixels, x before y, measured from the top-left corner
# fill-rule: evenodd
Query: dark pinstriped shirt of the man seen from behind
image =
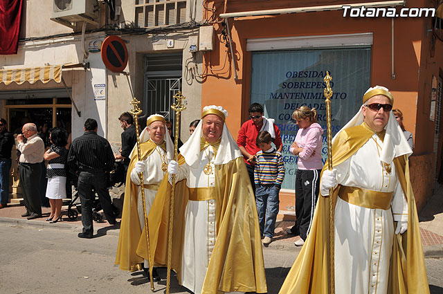
<path id="1" fill-rule="evenodd" d="M 114 167 L 114 153 L 108 140 L 95 131 L 86 131 L 72 141 L 68 165 L 75 171 L 111 171 Z"/>

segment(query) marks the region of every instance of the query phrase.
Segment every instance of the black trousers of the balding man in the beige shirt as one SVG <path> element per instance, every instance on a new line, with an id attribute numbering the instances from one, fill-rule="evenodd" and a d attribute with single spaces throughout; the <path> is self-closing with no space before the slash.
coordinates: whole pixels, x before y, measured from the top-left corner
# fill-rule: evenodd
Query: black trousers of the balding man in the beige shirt
<path id="1" fill-rule="evenodd" d="M 40 176 L 42 176 L 42 165 L 40 163 L 20 163 L 19 176 L 26 212 L 30 215 L 41 216 Z"/>

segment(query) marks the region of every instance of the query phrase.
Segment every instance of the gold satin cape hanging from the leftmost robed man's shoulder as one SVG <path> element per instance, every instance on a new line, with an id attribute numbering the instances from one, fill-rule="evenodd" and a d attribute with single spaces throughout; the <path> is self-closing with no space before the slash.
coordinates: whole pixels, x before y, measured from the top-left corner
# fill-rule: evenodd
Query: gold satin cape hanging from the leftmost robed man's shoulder
<path id="1" fill-rule="evenodd" d="M 155 148 L 156 144 L 152 140 L 141 143 L 141 158 L 145 160 Z M 123 201 L 120 234 L 118 235 L 116 264 L 120 265 L 120 270 L 140 270 L 139 264 L 143 262 L 143 257 L 136 255 L 136 248 L 141 237 L 140 219 L 137 210 L 138 186 L 131 181 L 131 172 L 137 161 L 138 151 L 135 149 L 127 169 L 125 200 Z"/>

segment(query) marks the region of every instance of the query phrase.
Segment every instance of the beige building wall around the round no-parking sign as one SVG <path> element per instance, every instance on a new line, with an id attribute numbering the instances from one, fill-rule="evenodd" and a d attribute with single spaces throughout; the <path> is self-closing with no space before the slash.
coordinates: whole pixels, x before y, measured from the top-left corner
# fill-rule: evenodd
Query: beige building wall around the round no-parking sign
<path id="1" fill-rule="evenodd" d="M 106 22 L 109 25 L 116 24 L 120 27 L 127 27 L 134 23 L 134 1 L 117 0 L 116 6 L 121 6 L 121 13 L 115 20 L 105 18 L 108 7 L 99 1 L 100 26 Z M 188 126 L 192 120 L 200 117 L 201 114 L 201 79 L 198 75 L 202 72 L 202 53 L 194 55 L 189 52 L 190 42 L 198 39 L 199 29 L 179 30 L 172 33 L 156 33 L 145 35 L 120 35 L 127 43 L 129 62 L 125 68 L 125 73 L 113 73 L 105 69 L 105 83 L 107 85 L 107 100 L 104 110 L 100 110 L 98 102 L 93 99 L 92 86 L 94 71 L 103 67 L 100 53 L 89 53 L 84 59 L 83 46 L 87 48 L 89 42 L 93 40 L 103 41 L 106 33 L 89 33 L 85 36 L 84 44 L 82 37 L 70 35 L 74 30 L 61 24 L 51 21 L 53 0 L 26 0 L 24 1 L 24 17 L 22 19 L 21 35 L 22 42 L 19 42 L 17 55 L 0 55 L 0 68 L 26 68 L 33 66 L 55 65 L 55 64 L 79 64 L 83 61 L 89 62 L 90 68 L 65 69 L 62 73 L 68 87 L 72 89 L 73 100 L 81 111 L 79 117 L 72 108 L 72 131 L 73 138 L 80 136 L 83 132 L 83 124 L 86 118 L 96 118 L 100 124 L 99 133 L 108 138 L 111 143 L 120 143 L 120 128 L 118 116 L 124 111 L 129 111 L 129 102 L 133 95 L 138 100 L 143 101 L 145 94 L 144 82 L 144 58 L 145 55 L 154 53 L 183 53 L 182 70 L 182 92 L 186 96 L 188 108 L 181 116 L 181 139 L 186 141 L 189 137 Z M 201 21 L 203 6 L 202 1 L 187 1 L 187 20 L 195 19 Z M 190 10 L 192 8 L 192 12 Z M 75 32 L 81 31 L 82 24 L 76 24 Z M 87 29 L 93 28 L 88 25 Z M 66 34 L 62 37 L 51 37 L 48 39 L 28 39 L 44 37 L 50 35 Z M 23 39 L 25 39 L 23 41 Z M 166 40 L 173 39 L 174 46 L 168 48 Z M 42 84 L 37 82 L 30 84 L 25 82 L 18 85 L 12 83 L 8 86 L 0 84 L 0 91 L 14 91 L 21 89 L 44 89 L 60 88 L 64 86 L 60 83 L 48 82 Z M 5 100 L 0 100 L 0 116 L 5 116 Z M 150 114 L 150 113 L 149 113 Z"/>

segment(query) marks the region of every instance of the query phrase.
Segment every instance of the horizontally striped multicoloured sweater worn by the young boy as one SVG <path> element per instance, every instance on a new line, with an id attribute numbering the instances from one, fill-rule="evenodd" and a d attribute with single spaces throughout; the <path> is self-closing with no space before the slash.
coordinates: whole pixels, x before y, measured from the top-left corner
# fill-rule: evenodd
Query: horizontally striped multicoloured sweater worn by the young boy
<path id="1" fill-rule="evenodd" d="M 282 154 L 273 148 L 270 151 L 258 151 L 255 154 L 255 185 L 282 185 L 283 179 L 284 163 Z"/>

